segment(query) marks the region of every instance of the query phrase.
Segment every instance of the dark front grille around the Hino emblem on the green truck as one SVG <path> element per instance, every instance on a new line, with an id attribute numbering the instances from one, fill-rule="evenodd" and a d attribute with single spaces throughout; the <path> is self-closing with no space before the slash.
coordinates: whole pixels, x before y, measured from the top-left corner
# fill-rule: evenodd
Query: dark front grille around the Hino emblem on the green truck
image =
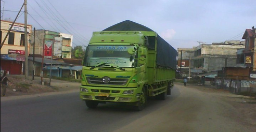
<path id="1" fill-rule="evenodd" d="M 110 78 L 108 83 L 103 82 L 103 78 L 86 78 L 89 84 L 104 84 L 104 85 L 125 85 L 128 79 L 117 79 L 117 78 Z"/>

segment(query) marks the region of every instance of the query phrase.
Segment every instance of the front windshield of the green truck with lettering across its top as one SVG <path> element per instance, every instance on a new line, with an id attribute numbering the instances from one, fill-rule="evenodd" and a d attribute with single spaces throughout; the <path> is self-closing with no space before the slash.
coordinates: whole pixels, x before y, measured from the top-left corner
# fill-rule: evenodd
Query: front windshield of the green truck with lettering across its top
<path id="1" fill-rule="evenodd" d="M 134 67 L 134 59 L 127 49 L 133 46 L 88 46 L 84 57 L 84 66 L 96 66 L 100 63 L 113 64 L 118 67 Z M 134 58 L 134 55 L 132 55 Z M 104 66 L 103 66 L 104 67 Z"/>

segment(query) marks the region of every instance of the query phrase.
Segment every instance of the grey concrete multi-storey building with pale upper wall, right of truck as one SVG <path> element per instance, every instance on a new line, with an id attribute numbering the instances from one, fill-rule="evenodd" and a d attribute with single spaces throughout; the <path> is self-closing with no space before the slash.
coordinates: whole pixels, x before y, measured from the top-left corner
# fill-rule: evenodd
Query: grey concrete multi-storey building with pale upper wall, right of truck
<path id="1" fill-rule="evenodd" d="M 236 66 L 237 50 L 245 48 L 240 41 L 225 41 L 223 43 L 202 44 L 194 48 L 193 69 L 205 72 L 222 70 L 223 67 Z"/>

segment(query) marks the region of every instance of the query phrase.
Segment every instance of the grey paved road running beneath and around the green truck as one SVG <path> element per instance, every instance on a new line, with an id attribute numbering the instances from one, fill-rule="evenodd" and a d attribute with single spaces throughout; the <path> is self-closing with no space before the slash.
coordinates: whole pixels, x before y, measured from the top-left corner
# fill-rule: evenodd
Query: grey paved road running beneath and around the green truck
<path id="1" fill-rule="evenodd" d="M 250 131 L 216 95 L 176 85 L 140 112 L 121 104 L 88 109 L 79 93 L 1 101 L 1 131 Z"/>

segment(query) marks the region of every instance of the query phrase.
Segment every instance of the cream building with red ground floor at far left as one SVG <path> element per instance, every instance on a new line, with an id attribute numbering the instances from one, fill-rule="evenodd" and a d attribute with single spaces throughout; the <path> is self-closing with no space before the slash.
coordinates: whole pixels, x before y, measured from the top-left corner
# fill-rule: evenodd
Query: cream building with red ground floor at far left
<path id="1" fill-rule="evenodd" d="M 1 20 L 1 43 L 4 40 L 12 22 Z M 32 25 L 28 25 L 28 52 L 30 52 L 29 39 Z M 1 68 L 11 75 L 23 74 L 25 62 L 24 24 L 15 23 L 1 49 Z"/>

